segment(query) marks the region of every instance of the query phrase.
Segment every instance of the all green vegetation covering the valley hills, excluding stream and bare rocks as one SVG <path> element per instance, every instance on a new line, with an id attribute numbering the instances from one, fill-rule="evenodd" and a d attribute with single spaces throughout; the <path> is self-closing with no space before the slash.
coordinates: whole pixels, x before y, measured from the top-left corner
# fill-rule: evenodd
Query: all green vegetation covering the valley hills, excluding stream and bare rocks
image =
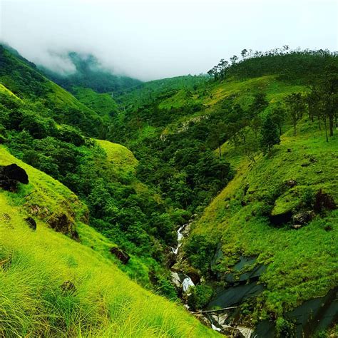
<path id="1" fill-rule="evenodd" d="M 267 265 L 258 277 L 265 290 L 239 307 L 249 326 L 270 319 L 288 332 L 286 312 L 337 285 L 336 53 L 244 50 L 209 77 L 120 84 L 94 58 L 74 54 L 77 72 L 58 83 L 76 99 L 28 61 L 0 52 L 1 143 L 68 187 L 20 162 L 31 183 L 0 194 L 10 215 L 0 222 L 16 217 L 18 224 L 4 240 L 4 264 L 9 252 L 17 255 L 9 269 L 30 277 L 16 291 L 27 293 L 16 297 L 30 297 L 41 314 L 25 314 L 20 324 L 9 302 L 5 333 L 29 334 L 38 323 L 37 335 L 59 327 L 71 336 L 210 337 L 182 309 L 123 275 L 177 300 L 168 252 L 191 217 L 175 268 L 204 277 L 187 297 L 193 310 L 229 285 L 227 274 L 243 256 Z M 0 164 L 17 162 L 0 150 Z M 34 233 L 23 219 L 36 207 Z M 77 233 L 79 242 L 47 229 L 61 212 L 63 232 Z M 34 245 L 19 247 L 23 235 Z M 112 247 L 130 255 L 128 264 Z M 76 292 L 68 282 L 66 292 L 60 287 L 66 281 Z"/>

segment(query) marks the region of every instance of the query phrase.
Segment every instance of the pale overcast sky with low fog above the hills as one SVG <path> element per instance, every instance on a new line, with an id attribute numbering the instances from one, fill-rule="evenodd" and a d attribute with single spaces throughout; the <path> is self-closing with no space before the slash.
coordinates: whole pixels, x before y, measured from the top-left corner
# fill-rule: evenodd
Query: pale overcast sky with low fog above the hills
<path id="1" fill-rule="evenodd" d="M 337 51 L 338 0 L 0 0 L 0 41 L 60 73 L 69 51 L 149 81 L 206 73 L 243 48 Z"/>

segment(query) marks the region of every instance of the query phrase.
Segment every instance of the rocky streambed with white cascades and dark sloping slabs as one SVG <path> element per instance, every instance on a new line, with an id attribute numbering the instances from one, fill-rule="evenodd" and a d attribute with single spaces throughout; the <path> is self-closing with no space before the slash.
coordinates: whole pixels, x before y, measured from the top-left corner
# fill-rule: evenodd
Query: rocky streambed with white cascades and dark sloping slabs
<path id="1" fill-rule="evenodd" d="M 178 229 L 177 247 L 171 247 L 170 267 L 172 282 L 178 289 L 178 294 L 185 307 L 201 322 L 228 337 L 270 338 L 277 337 L 275 322 L 263 320 L 255 325 L 242 324 L 241 305 L 250 302 L 265 290 L 260 282 L 260 276 L 267 270 L 266 265 L 257 263 L 257 257 L 240 257 L 232 267 L 232 272 L 222 276 L 225 287 L 214 287 L 214 295 L 210 302 L 200 311 L 192 311 L 188 299 L 195 285 L 204 282 L 197 273 L 183 269 L 188 264 L 181 249 L 183 240 L 190 234 L 193 220 Z M 212 264 L 222 258 L 220 245 L 217 247 Z M 217 279 L 216 276 L 215 278 Z M 212 281 L 210 281 L 212 282 Z M 214 281 L 215 282 L 215 281 Z M 338 289 L 330 290 L 324 297 L 303 302 L 290 312 L 285 313 L 285 319 L 292 323 L 292 337 L 314 337 L 318 332 L 328 329 L 338 319 Z M 281 336 L 283 337 L 283 336 Z"/>

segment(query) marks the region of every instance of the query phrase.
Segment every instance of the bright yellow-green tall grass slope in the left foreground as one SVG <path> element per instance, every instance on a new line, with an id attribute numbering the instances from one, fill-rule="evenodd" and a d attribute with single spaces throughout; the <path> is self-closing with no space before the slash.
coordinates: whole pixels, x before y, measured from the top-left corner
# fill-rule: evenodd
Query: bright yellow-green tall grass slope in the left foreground
<path id="1" fill-rule="evenodd" d="M 83 242 L 104 242 L 81 222 L 83 205 L 61 183 L 0 148 L 0 165 L 29 174 L 19 193 L 0 192 L 0 335 L 74 337 L 212 337 L 184 309 L 143 290 L 99 252 L 54 232 L 43 218 L 34 232 L 24 200 L 69 203 Z M 30 193 L 30 195 L 28 195 Z M 85 237 L 86 239 L 84 239 Z M 73 290 L 61 285 L 71 281 Z"/>

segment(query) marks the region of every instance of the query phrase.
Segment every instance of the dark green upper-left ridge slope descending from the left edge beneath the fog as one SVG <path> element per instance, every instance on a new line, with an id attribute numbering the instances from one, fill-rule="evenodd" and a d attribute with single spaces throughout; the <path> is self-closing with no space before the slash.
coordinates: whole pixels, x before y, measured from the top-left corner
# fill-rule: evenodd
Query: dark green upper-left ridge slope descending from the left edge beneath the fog
<path id="1" fill-rule="evenodd" d="M 0 83 L 24 103 L 39 101 L 40 114 L 81 128 L 88 135 L 100 135 L 103 121 L 98 114 L 71 93 L 49 81 L 34 63 L 16 56 L 0 45 Z M 42 109 L 43 110 L 42 110 Z"/>

